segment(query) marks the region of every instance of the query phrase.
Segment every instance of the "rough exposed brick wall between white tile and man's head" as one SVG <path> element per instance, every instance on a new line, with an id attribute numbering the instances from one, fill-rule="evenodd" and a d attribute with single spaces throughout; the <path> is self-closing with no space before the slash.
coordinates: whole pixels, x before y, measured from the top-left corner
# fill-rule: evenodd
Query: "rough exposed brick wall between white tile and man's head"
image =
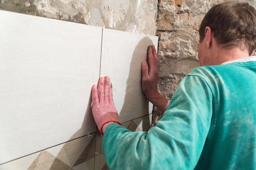
<path id="1" fill-rule="evenodd" d="M 182 78 L 199 66 L 198 30 L 204 15 L 213 5 L 227 1 L 230 0 L 159 0 L 158 88 L 168 99 L 171 99 Z M 239 2 L 248 2 L 256 7 L 256 0 L 239 0 Z M 153 125 L 161 117 L 162 113 L 154 108 Z"/>

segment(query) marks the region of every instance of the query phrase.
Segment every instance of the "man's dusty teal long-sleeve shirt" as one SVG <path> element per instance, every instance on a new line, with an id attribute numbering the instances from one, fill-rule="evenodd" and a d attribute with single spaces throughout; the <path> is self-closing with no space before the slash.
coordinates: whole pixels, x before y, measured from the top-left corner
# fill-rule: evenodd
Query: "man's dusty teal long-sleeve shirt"
<path id="1" fill-rule="evenodd" d="M 110 124 L 110 170 L 256 168 L 256 62 L 195 68 L 148 132 Z"/>

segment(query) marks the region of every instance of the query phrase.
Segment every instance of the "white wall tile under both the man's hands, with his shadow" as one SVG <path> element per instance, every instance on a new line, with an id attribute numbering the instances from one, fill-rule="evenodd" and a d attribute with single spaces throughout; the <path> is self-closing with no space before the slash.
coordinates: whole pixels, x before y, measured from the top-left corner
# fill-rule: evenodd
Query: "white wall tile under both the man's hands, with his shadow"
<path id="1" fill-rule="evenodd" d="M 110 76 L 115 106 L 122 122 L 152 112 L 141 90 L 141 61 L 158 37 L 103 29 L 101 76 Z"/>

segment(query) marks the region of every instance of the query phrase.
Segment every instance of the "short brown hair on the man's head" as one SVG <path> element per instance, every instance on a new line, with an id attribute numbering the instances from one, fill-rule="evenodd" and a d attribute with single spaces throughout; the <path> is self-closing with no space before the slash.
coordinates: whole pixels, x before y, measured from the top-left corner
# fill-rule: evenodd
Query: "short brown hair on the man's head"
<path id="1" fill-rule="evenodd" d="M 248 3 L 224 2 L 213 6 L 201 22 L 200 43 L 207 26 L 224 49 L 240 47 L 249 55 L 256 49 L 256 10 Z"/>

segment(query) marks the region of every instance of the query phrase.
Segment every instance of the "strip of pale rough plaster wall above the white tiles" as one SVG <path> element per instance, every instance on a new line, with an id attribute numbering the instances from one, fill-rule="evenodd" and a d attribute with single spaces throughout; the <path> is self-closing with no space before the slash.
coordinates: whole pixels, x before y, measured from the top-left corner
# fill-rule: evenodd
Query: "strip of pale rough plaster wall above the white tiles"
<path id="1" fill-rule="evenodd" d="M 0 9 L 147 35 L 157 30 L 157 0 L 0 0 Z"/>

